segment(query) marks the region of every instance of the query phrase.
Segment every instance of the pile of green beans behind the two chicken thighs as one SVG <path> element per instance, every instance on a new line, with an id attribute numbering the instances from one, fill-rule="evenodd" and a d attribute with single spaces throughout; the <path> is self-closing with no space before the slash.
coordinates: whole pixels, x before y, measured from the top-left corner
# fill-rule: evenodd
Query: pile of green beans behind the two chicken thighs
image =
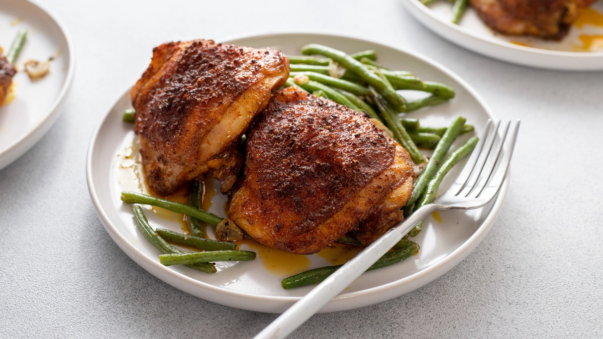
<path id="1" fill-rule="evenodd" d="M 414 163 L 425 162 L 425 157 L 417 147 L 435 148 L 441 135 L 418 130 L 418 121 L 407 124 L 399 119 L 398 113 L 444 103 L 455 96 L 452 88 L 433 81 L 423 81 L 411 72 L 384 68 L 376 62 L 377 53 L 374 50 L 346 54 L 328 46 L 311 43 L 303 46 L 301 53 L 305 55 L 288 57 L 291 72 L 285 87 L 296 86 L 351 109 L 364 111 L 370 118 L 387 125 L 394 139 L 411 154 Z M 346 69 L 341 78 L 330 75 L 332 63 Z M 406 101 L 397 90 L 420 90 L 431 95 L 420 100 Z"/>

